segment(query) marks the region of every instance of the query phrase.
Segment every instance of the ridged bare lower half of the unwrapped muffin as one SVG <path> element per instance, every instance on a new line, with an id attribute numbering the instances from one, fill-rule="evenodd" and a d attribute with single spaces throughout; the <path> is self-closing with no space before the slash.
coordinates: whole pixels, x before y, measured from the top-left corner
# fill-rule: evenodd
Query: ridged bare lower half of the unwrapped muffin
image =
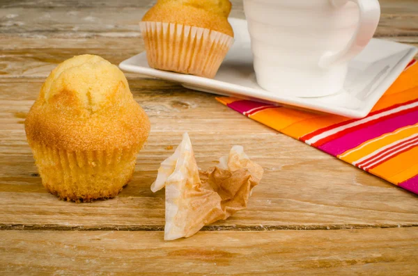
<path id="1" fill-rule="evenodd" d="M 139 148 L 68 151 L 31 143 L 42 184 L 63 200 L 115 197 L 132 178 Z"/>

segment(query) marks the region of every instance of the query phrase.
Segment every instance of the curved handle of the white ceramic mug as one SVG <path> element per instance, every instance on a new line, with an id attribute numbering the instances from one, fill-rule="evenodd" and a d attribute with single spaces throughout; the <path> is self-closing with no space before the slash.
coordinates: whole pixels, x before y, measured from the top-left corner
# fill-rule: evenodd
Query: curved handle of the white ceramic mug
<path id="1" fill-rule="evenodd" d="M 322 68 L 347 62 L 357 56 L 369 44 L 378 28 L 380 20 L 378 0 L 330 0 L 335 8 L 342 7 L 348 2 L 357 3 L 357 6 L 359 6 L 360 15 L 357 30 L 345 49 L 338 52 L 327 52 L 320 58 L 319 66 Z"/>

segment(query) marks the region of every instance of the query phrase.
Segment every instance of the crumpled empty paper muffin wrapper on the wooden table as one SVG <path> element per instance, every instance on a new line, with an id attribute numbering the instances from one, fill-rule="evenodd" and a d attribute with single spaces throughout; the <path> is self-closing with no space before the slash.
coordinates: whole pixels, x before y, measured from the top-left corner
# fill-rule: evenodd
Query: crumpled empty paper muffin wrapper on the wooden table
<path id="1" fill-rule="evenodd" d="M 219 165 L 199 172 L 187 133 L 168 159 L 161 163 L 151 186 L 166 188 L 164 240 L 187 238 L 203 226 L 226 220 L 247 208 L 252 189 L 263 177 L 263 168 L 249 160 L 242 146 L 234 146 Z"/>

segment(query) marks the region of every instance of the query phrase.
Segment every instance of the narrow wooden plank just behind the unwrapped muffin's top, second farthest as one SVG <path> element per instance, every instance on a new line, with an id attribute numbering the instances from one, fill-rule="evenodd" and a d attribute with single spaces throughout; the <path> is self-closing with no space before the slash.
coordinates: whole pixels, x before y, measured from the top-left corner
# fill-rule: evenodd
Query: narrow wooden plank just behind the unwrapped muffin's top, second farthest
<path id="1" fill-rule="evenodd" d="M 387 38 L 418 46 L 418 37 Z M 140 38 L 20 38 L 0 35 L 0 79 L 46 78 L 63 60 L 79 54 L 96 54 L 118 64 L 144 50 Z M 125 73 L 128 79 L 138 74 Z"/>

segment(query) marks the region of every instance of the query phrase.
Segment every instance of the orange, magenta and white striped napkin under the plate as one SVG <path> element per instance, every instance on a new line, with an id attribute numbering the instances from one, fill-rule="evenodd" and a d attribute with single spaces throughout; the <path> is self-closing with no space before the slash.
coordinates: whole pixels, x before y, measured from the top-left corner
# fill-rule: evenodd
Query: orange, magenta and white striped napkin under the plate
<path id="1" fill-rule="evenodd" d="M 418 194 L 418 64 L 363 119 L 219 97 L 235 111 Z"/>

